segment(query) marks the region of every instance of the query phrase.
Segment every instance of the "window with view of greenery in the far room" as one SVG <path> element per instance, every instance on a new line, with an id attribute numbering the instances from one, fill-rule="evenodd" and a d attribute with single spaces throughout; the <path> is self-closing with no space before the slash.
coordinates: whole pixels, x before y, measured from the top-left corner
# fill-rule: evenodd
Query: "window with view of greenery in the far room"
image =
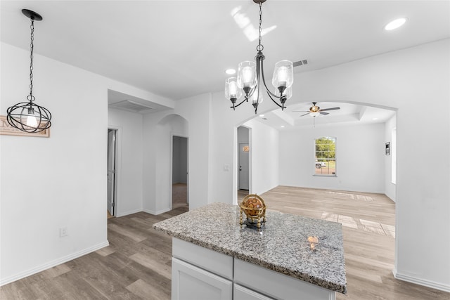
<path id="1" fill-rule="evenodd" d="M 336 138 L 316 138 L 314 175 L 336 176 Z"/>

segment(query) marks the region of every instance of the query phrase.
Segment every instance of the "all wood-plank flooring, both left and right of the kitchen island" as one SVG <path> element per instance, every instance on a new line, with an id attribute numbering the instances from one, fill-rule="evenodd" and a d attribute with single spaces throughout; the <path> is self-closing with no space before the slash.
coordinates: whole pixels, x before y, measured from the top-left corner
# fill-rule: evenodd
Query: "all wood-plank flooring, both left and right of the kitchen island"
<path id="1" fill-rule="evenodd" d="M 280 186 L 261 196 L 268 209 L 342 223 L 348 293 L 337 299 L 450 299 L 394 279 L 395 206 L 385 195 Z M 109 247 L 4 285 L 0 299 L 170 299 L 172 240 L 151 226 L 184 211 L 108 219 Z"/>

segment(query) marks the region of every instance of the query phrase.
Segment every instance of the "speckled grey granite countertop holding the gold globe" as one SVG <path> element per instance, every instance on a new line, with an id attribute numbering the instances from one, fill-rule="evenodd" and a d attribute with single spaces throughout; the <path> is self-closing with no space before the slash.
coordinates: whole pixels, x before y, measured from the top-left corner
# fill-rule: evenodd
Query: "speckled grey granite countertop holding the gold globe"
<path id="1" fill-rule="evenodd" d="M 239 225 L 237 205 L 212 203 L 153 224 L 186 242 L 255 263 L 342 294 L 347 293 L 340 223 L 266 211 L 262 230 Z M 243 215 L 245 218 L 245 215 Z M 308 237 L 319 237 L 311 251 Z"/>

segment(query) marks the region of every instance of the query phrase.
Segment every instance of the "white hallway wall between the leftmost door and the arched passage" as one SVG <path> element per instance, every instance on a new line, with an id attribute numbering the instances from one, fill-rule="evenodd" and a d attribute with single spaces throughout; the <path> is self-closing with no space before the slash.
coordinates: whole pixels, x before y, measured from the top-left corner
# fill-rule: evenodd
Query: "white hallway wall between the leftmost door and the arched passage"
<path id="1" fill-rule="evenodd" d="M 143 117 L 124 110 L 108 109 L 108 128 L 118 129 L 116 216 L 142 211 Z"/>

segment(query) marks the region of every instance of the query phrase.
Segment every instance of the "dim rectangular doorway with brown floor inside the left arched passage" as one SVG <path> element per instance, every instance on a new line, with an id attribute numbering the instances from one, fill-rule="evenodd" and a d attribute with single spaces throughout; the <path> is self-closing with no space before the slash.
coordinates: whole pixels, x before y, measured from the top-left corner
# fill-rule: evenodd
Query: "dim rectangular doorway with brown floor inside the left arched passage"
<path id="1" fill-rule="evenodd" d="M 172 209 L 189 207 L 188 138 L 172 136 Z"/>

